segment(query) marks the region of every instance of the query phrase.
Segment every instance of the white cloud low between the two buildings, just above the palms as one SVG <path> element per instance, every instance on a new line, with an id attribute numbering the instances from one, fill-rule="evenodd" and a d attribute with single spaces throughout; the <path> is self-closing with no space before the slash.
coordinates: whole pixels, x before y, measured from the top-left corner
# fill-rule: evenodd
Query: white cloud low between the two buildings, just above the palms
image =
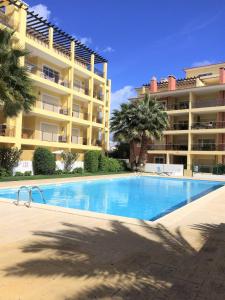
<path id="1" fill-rule="evenodd" d="M 120 104 L 127 102 L 129 98 L 136 96 L 134 87 L 126 85 L 111 94 L 111 110 L 119 108 Z"/>

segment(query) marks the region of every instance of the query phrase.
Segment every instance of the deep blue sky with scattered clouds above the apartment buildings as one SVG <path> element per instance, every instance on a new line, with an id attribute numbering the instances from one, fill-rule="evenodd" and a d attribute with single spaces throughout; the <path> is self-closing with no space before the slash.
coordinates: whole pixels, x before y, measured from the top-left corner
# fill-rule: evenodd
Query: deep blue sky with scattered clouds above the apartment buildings
<path id="1" fill-rule="evenodd" d="M 111 109 L 135 87 L 183 68 L 225 61 L 224 0 L 26 0 L 108 59 Z"/>

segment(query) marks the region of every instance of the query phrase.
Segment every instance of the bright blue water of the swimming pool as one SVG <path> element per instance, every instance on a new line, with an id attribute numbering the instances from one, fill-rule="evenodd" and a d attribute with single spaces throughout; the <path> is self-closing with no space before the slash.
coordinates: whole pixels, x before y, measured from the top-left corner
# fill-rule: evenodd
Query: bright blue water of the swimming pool
<path id="1" fill-rule="evenodd" d="M 220 182 L 143 176 L 40 187 L 48 205 L 156 220 L 221 186 Z M 0 198 L 16 199 L 16 194 L 17 189 L 0 190 Z M 27 198 L 23 191 L 21 199 Z M 33 198 L 42 203 L 38 192 Z"/>

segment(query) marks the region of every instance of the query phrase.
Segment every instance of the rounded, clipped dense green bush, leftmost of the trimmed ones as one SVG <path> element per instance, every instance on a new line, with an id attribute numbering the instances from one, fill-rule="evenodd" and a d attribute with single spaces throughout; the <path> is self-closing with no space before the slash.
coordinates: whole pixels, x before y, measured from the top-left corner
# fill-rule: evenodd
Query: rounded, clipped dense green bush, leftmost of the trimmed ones
<path id="1" fill-rule="evenodd" d="M 55 167 L 55 155 L 50 150 L 39 147 L 34 151 L 33 169 L 35 175 L 54 174 Z"/>

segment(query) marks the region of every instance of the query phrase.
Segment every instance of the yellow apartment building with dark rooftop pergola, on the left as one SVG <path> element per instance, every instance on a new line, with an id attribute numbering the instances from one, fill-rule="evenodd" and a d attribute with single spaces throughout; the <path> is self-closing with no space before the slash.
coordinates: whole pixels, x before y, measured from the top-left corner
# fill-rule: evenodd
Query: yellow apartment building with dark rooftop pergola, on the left
<path id="1" fill-rule="evenodd" d="M 22 149 L 24 161 L 38 146 L 79 152 L 81 160 L 87 150 L 108 149 L 107 60 L 22 1 L 0 1 L 4 27 L 15 31 L 14 45 L 29 51 L 21 63 L 32 79 L 36 104 L 30 113 L 11 119 L 0 111 L 0 146 Z"/>

